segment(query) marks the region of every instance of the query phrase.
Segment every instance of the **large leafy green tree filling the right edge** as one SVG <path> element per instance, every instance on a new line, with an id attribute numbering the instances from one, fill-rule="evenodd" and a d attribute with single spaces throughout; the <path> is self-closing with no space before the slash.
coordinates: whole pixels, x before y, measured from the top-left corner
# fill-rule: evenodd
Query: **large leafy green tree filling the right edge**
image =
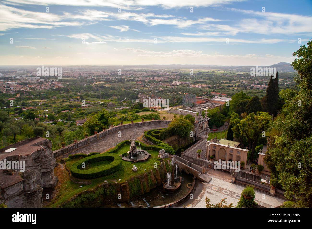
<path id="1" fill-rule="evenodd" d="M 280 92 L 285 105 L 271 126 L 265 163 L 275 174 L 285 197 L 300 207 L 312 207 L 312 40 L 293 53 L 299 93 Z"/>

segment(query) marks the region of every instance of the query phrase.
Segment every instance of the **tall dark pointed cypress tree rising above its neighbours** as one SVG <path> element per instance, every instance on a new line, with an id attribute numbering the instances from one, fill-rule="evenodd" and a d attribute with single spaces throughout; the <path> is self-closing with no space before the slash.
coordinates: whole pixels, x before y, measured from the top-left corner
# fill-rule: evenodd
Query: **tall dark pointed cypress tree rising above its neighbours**
<path id="1" fill-rule="evenodd" d="M 278 72 L 276 73 L 276 78 L 271 79 L 268 84 L 268 88 L 266 88 L 266 95 L 262 98 L 262 107 L 265 112 L 269 112 L 273 117 L 276 116 L 278 110 L 280 109 L 280 97 L 278 93 L 280 89 L 278 87 Z"/>

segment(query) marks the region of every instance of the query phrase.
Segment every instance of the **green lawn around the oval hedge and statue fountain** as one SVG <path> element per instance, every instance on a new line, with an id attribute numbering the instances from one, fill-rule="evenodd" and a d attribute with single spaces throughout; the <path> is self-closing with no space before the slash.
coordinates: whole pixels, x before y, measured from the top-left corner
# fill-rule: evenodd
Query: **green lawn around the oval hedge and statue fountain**
<path id="1" fill-rule="evenodd" d="M 120 155 L 120 154 L 123 154 L 127 151 L 129 151 L 129 145 L 125 145 L 125 146 L 121 147 L 116 152 L 116 154 Z M 50 205 L 48 205 L 47 207 L 57 207 L 60 203 L 64 202 L 66 199 L 71 198 L 72 196 L 76 195 L 77 193 L 79 193 L 83 190 L 95 188 L 97 185 L 104 183 L 105 180 L 108 183 L 115 183 L 115 182 L 122 183 L 126 180 L 129 180 L 133 176 L 144 174 L 145 171 L 149 171 L 149 170 L 153 169 L 155 162 L 159 166 L 160 163 L 163 161 L 163 159 L 158 158 L 158 151 L 154 151 L 154 150 L 147 150 L 147 151 L 151 154 L 151 157 L 149 158 L 148 161 L 133 163 L 133 162 L 123 160 L 122 161 L 122 169 L 120 169 L 119 171 L 117 171 L 113 174 L 110 174 L 108 176 L 100 177 L 100 178 L 96 178 L 96 179 L 90 179 L 90 180 L 74 178 L 77 181 L 91 182 L 91 184 L 82 185 L 82 187 L 80 187 L 80 184 L 76 184 L 76 183 L 72 182 L 71 180 L 66 179 L 66 182 L 61 183 L 61 186 L 58 187 L 58 193 L 56 194 L 56 197 L 53 199 L 53 202 Z M 69 170 L 71 165 L 80 159 L 81 158 L 67 159 L 66 168 Z M 110 163 L 110 162 L 107 162 L 107 163 Z M 138 168 L 137 172 L 132 171 L 134 164 Z M 90 167 L 87 166 L 86 169 L 90 169 L 91 167 L 96 167 L 96 166 L 103 166 L 103 165 L 101 165 L 100 162 L 98 162 L 98 163 L 90 164 L 89 166 Z M 119 181 L 119 179 L 120 179 L 120 181 Z"/>

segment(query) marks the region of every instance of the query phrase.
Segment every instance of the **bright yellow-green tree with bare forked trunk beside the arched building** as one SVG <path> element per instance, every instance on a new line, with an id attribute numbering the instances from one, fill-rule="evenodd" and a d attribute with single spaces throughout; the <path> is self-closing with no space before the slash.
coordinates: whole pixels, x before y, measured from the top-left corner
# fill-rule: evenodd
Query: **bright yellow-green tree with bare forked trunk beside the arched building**
<path id="1" fill-rule="evenodd" d="M 266 112 L 250 113 L 246 118 L 238 121 L 234 119 L 230 123 L 233 125 L 234 136 L 245 138 L 248 142 L 248 149 L 251 152 L 251 158 L 254 157 L 256 144 L 262 131 L 267 131 L 271 116 Z"/>

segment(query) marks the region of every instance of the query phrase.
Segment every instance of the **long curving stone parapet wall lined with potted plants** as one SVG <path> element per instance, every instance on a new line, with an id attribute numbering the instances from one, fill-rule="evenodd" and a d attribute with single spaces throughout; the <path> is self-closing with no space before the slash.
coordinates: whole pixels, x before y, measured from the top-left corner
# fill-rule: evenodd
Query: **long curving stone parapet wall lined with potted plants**
<path id="1" fill-rule="evenodd" d="M 77 150 L 83 146 L 86 146 L 90 142 L 94 142 L 100 138 L 103 138 L 109 134 L 112 134 L 116 131 L 120 131 L 123 129 L 127 128 L 132 128 L 132 127 L 139 127 L 139 126 L 149 126 L 149 125 L 157 125 L 157 124 L 169 124 L 171 121 L 169 120 L 154 120 L 154 121 L 146 121 L 146 122 L 135 122 L 135 123 L 129 123 L 129 124 L 124 124 L 124 125 L 119 125 L 119 126 L 114 126 L 112 128 L 106 129 L 105 131 L 99 132 L 97 135 L 92 135 L 88 138 L 84 138 L 77 143 L 72 143 L 71 145 L 66 146 L 65 148 L 61 148 L 58 150 L 53 151 L 53 156 L 54 158 L 59 157 L 61 155 L 67 154 L 73 150 Z"/>

